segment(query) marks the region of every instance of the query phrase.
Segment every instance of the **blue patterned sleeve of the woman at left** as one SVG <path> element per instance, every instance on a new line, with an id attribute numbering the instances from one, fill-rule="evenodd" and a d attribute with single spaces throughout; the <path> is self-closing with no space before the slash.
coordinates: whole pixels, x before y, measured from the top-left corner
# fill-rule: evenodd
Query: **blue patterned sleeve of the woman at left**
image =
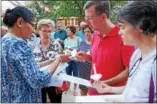
<path id="1" fill-rule="evenodd" d="M 16 42 L 12 45 L 12 60 L 26 82 L 32 88 L 42 88 L 50 82 L 51 74 L 48 71 L 40 71 L 34 60 L 31 48 L 26 42 Z"/>

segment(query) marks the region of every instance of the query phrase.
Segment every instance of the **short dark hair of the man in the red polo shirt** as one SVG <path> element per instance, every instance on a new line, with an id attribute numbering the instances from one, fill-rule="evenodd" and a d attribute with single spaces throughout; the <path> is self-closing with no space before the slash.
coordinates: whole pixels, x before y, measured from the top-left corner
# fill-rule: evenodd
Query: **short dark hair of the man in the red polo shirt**
<path id="1" fill-rule="evenodd" d="M 87 1 L 84 5 L 84 10 L 90 8 L 91 6 L 95 6 L 95 11 L 97 15 L 105 13 L 107 18 L 110 17 L 110 2 L 109 0 L 105 1 Z"/>

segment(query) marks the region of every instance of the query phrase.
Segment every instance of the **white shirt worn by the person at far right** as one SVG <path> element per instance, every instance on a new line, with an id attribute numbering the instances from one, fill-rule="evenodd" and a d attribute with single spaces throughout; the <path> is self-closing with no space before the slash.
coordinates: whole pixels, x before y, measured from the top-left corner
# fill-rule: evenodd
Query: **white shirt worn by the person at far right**
<path id="1" fill-rule="evenodd" d="M 134 66 L 136 61 L 141 57 L 141 51 L 137 49 L 130 61 L 130 69 Z M 147 57 L 137 62 L 131 72 L 131 77 L 128 78 L 126 88 L 123 92 L 126 102 L 148 102 L 149 100 L 149 86 L 151 73 L 154 81 L 154 102 L 156 101 L 156 49 L 152 51 Z M 138 66 L 139 64 L 139 66 Z M 130 73 L 129 73 L 130 74 Z"/>

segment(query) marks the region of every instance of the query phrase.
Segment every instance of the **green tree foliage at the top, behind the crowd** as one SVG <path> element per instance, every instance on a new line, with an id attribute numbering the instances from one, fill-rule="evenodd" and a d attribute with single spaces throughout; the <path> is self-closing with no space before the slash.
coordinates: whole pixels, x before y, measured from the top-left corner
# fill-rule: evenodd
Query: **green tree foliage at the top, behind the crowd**
<path id="1" fill-rule="evenodd" d="M 86 0 L 48 0 L 48 1 L 34 1 L 32 5 L 28 6 L 36 13 L 37 19 L 50 18 L 56 19 L 59 17 L 79 17 L 80 20 L 84 18 L 83 6 Z M 127 1 L 111 0 L 111 21 L 115 21 L 118 8 L 124 6 Z"/>

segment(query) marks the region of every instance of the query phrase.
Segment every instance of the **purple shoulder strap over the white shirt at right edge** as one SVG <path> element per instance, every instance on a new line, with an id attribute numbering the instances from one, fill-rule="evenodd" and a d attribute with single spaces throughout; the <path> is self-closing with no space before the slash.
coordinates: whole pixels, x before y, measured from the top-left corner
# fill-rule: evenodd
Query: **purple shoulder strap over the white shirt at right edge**
<path id="1" fill-rule="evenodd" d="M 153 60 L 153 64 L 156 61 L 156 58 L 154 58 Z M 151 71 L 151 78 L 150 78 L 150 87 L 149 87 L 149 103 L 154 103 L 154 81 L 153 81 L 153 75 L 152 75 L 152 71 Z"/>

